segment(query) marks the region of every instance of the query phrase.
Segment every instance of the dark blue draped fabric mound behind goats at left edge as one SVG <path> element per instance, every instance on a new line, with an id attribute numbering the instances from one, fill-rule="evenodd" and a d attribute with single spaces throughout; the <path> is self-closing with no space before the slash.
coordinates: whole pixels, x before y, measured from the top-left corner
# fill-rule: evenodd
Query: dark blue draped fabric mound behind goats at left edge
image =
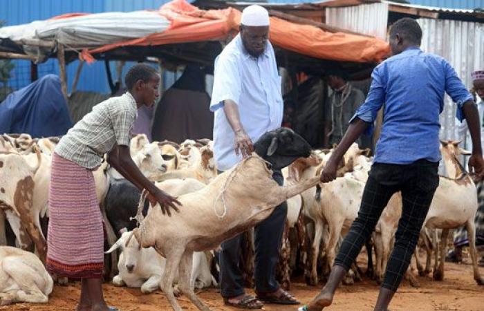
<path id="1" fill-rule="evenodd" d="M 64 135 L 73 126 L 57 75 L 46 75 L 0 104 L 0 133 Z"/>

